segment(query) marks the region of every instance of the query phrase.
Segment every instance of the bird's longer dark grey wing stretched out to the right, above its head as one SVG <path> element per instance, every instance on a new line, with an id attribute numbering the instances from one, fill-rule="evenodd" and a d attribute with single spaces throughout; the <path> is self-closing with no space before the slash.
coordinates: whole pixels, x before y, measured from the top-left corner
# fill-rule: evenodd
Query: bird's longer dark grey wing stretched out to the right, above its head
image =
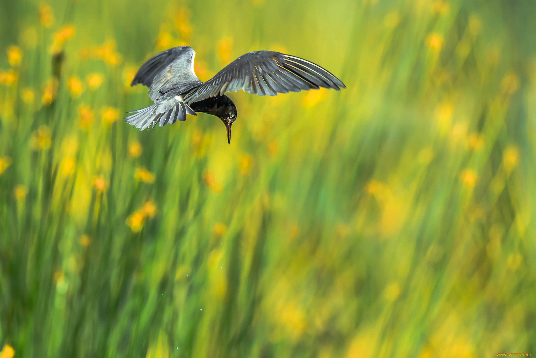
<path id="1" fill-rule="evenodd" d="M 276 96 L 319 87 L 346 88 L 340 79 L 315 63 L 279 52 L 255 51 L 229 63 L 209 81 L 190 91 L 184 101 L 190 104 L 239 90 Z"/>

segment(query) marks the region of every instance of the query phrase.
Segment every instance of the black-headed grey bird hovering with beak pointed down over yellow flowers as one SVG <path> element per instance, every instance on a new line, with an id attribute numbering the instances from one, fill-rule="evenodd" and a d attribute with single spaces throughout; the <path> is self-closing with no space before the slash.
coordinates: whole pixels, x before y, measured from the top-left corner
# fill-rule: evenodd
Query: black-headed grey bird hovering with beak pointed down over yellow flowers
<path id="1" fill-rule="evenodd" d="M 343 82 L 319 65 L 300 57 L 274 51 L 255 51 L 229 63 L 207 82 L 199 81 L 193 72 L 196 52 L 189 46 L 173 47 L 154 55 L 136 73 L 131 86 L 149 87 L 154 105 L 138 109 L 125 122 L 140 130 L 155 125 L 162 127 L 186 115 L 203 112 L 217 116 L 227 128 L 236 120 L 236 106 L 224 93 L 243 90 L 259 96 L 301 90 L 346 88 Z"/>

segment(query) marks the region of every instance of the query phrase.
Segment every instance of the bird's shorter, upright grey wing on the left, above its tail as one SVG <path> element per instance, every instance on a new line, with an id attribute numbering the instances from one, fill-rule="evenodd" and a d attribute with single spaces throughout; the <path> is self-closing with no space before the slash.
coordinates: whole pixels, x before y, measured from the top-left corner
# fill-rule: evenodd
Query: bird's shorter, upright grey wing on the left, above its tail
<path id="1" fill-rule="evenodd" d="M 201 83 L 193 71 L 196 52 L 189 46 L 173 47 L 148 59 L 134 76 L 131 86 L 149 87 L 149 97 L 156 101 L 162 93 Z"/>

